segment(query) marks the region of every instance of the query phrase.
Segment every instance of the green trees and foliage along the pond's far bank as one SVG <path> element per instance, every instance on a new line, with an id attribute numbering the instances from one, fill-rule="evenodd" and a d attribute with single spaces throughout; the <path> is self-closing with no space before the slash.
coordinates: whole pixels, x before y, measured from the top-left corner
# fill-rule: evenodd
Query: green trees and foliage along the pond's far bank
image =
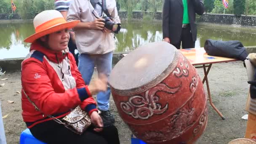
<path id="1" fill-rule="evenodd" d="M 222 0 L 203 0 L 205 13 L 224 13 Z M 54 8 L 54 0 L 13 0 L 16 11 L 22 19 L 33 19 L 37 13 Z M 150 19 L 157 11 L 162 11 L 164 0 L 116 0 L 117 7 L 121 11 L 128 12 L 128 19 L 132 18 L 132 11 L 153 12 Z M 246 4 L 245 4 L 246 2 Z M 246 11 L 245 11 L 246 10 Z M 11 0 L 1 0 L 0 13 L 9 13 L 9 19 L 13 18 L 11 11 Z M 225 9 L 229 14 L 256 15 L 256 0 L 229 0 L 229 7 Z M 149 19 L 145 15 L 143 19 Z"/>

